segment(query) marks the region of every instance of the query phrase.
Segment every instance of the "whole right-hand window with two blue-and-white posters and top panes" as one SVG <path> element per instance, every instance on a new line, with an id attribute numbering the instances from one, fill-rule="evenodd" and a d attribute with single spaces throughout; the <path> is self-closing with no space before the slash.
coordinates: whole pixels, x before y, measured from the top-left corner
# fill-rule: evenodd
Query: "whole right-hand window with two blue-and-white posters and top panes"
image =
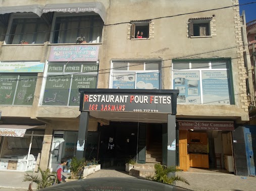
<path id="1" fill-rule="evenodd" d="M 179 89 L 178 104 L 231 105 L 228 60 L 173 61 L 173 88 Z"/>

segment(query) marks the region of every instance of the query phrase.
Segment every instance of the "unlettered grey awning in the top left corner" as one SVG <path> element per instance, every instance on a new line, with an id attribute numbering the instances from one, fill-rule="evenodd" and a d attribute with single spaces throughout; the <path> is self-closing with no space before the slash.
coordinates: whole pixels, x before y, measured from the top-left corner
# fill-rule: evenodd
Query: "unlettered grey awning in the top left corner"
<path id="1" fill-rule="evenodd" d="M 6 13 L 35 13 L 41 17 L 43 7 L 43 5 L 0 7 L 0 15 L 4 15 Z"/>

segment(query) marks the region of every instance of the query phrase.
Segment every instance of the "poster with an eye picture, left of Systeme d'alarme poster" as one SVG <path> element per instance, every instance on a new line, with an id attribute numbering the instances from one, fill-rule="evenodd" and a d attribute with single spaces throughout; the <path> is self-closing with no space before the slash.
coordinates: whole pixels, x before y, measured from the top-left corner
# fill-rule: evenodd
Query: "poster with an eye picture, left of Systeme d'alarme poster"
<path id="1" fill-rule="evenodd" d="M 135 73 L 113 73 L 113 86 L 115 89 L 134 89 Z"/>

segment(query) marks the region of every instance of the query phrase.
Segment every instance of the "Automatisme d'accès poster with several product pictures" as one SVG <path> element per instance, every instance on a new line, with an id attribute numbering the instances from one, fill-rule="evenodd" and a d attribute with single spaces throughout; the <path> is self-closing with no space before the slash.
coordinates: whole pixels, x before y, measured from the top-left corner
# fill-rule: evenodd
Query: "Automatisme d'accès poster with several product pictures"
<path id="1" fill-rule="evenodd" d="M 178 104 L 201 104 L 199 71 L 173 71 L 173 88 L 180 91 Z"/>

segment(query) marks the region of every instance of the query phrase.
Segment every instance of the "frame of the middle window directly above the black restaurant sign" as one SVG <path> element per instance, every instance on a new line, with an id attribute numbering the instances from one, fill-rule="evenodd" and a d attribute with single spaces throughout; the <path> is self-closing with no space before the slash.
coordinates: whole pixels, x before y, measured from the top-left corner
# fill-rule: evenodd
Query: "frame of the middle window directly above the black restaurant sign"
<path id="1" fill-rule="evenodd" d="M 127 63 L 127 70 L 114 70 L 113 68 L 113 64 L 114 63 Z M 149 63 L 158 63 L 159 64 L 159 69 L 158 70 L 145 70 L 146 69 L 146 62 L 149 62 Z M 130 67 L 130 63 L 143 63 L 144 67 L 143 67 L 143 70 L 129 70 L 129 67 Z M 137 74 L 138 73 L 159 73 L 159 89 L 162 89 L 162 61 L 160 60 L 148 60 L 148 61 L 145 61 L 145 60 L 130 60 L 130 61 L 120 61 L 120 60 L 111 60 L 111 72 L 110 72 L 110 80 L 109 80 L 109 88 L 110 89 L 113 89 L 113 79 L 114 79 L 114 73 L 134 73 L 135 75 L 135 82 L 134 82 L 134 89 L 137 89 L 136 88 L 136 80 L 137 80 Z"/>

